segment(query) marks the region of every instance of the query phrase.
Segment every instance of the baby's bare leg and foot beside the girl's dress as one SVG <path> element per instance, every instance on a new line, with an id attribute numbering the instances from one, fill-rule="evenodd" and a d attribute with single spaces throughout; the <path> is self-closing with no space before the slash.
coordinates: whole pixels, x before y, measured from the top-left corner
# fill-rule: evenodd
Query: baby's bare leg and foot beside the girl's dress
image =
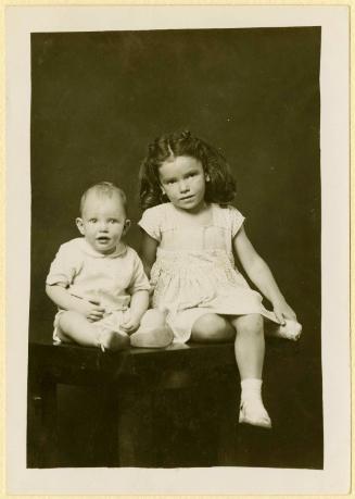
<path id="1" fill-rule="evenodd" d="M 166 324 L 166 313 L 156 309 L 148 310 L 138 330 L 130 335 L 130 345 L 137 348 L 165 348 L 174 335 Z"/>

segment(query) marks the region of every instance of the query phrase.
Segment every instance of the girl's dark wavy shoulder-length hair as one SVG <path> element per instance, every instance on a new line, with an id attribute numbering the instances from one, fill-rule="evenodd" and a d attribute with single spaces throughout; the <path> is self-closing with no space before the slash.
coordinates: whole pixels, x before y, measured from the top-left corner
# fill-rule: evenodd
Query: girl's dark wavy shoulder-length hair
<path id="1" fill-rule="evenodd" d="M 194 158 L 202 163 L 210 177 L 206 183 L 205 200 L 228 204 L 236 196 L 236 183 L 224 155 L 204 140 L 193 137 L 190 132 L 163 135 L 148 146 L 139 173 L 140 204 L 142 210 L 168 201 L 162 194 L 159 167 L 168 159 L 180 155 Z"/>

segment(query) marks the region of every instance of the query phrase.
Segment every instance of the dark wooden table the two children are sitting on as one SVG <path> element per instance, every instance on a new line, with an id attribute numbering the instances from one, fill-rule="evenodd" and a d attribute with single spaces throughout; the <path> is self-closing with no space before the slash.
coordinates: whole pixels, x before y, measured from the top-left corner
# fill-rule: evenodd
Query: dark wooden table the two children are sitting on
<path id="1" fill-rule="evenodd" d="M 266 370 L 280 364 L 282 370 L 284 360 L 295 359 L 296 351 L 296 344 L 268 341 Z M 61 384 L 96 387 L 107 394 L 110 429 L 106 428 L 104 438 L 114 444 L 111 450 L 107 448 L 105 466 L 160 466 L 154 453 L 154 401 L 166 392 L 195 390 L 198 395 L 202 387 L 211 390 L 215 406 L 215 464 L 239 462 L 239 375 L 232 344 L 102 353 L 97 348 L 35 341 L 29 344 L 28 359 L 28 467 L 62 465 L 58 458 L 56 421 L 56 390 Z"/>

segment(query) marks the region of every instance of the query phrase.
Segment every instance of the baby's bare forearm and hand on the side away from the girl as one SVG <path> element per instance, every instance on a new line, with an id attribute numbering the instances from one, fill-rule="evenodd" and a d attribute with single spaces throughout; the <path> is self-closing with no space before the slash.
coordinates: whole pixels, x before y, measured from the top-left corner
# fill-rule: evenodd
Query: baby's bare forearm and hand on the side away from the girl
<path id="1" fill-rule="evenodd" d="M 90 302 L 80 298 L 73 297 L 66 288 L 59 284 L 46 285 L 46 292 L 49 298 L 61 309 L 71 310 L 85 315 L 89 321 L 102 319 L 104 309 L 99 307 L 99 302 Z"/>

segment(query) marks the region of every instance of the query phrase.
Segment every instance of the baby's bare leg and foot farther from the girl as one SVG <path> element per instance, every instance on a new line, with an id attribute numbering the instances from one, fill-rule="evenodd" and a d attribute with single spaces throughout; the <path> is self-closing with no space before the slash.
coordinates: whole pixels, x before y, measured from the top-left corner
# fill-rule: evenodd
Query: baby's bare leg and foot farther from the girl
<path id="1" fill-rule="evenodd" d="M 66 311 L 59 317 L 58 336 L 63 341 L 75 341 L 87 347 L 101 347 L 104 350 L 122 350 L 129 347 L 129 337 L 114 330 L 100 332 L 78 312 Z"/>

